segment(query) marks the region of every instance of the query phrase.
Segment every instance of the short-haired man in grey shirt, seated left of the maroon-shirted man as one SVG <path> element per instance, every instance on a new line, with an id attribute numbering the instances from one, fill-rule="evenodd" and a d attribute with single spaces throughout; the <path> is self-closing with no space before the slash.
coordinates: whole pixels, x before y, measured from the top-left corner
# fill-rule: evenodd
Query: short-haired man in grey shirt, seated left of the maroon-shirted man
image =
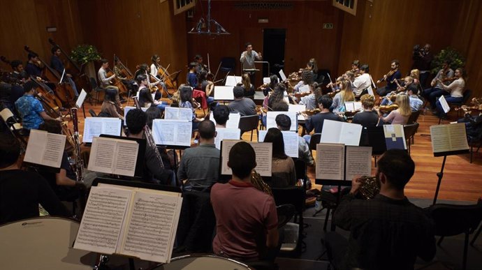
<path id="1" fill-rule="evenodd" d="M 209 192 L 219 177 L 219 157 L 221 152 L 214 145 L 216 128 L 210 120 L 199 123 L 199 144 L 188 148 L 182 154 L 177 170 L 177 179 L 184 183 L 184 190 Z"/>

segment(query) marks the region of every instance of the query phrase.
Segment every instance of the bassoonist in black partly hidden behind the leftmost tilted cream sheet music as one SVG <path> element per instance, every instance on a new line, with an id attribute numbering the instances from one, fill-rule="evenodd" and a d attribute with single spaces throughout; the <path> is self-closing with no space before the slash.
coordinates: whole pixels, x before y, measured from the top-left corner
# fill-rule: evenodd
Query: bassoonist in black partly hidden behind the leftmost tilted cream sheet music
<path id="1" fill-rule="evenodd" d="M 48 133 L 62 134 L 61 123 L 55 120 L 45 120 L 39 130 L 45 130 Z M 52 190 L 61 201 L 71 202 L 79 197 L 80 190 L 85 190 L 86 186 L 80 181 L 76 181 L 77 176 L 73 172 L 71 164 L 68 163 L 68 155 L 64 150 L 59 172 L 52 172 L 48 169 L 41 168 L 38 172 L 48 181 Z"/>

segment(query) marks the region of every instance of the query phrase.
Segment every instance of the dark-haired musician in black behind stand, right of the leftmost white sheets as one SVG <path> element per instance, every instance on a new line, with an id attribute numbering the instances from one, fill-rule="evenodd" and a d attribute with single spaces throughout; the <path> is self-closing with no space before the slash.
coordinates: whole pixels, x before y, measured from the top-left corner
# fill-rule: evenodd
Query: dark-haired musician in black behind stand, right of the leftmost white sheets
<path id="1" fill-rule="evenodd" d="M 129 135 L 127 137 L 145 139 L 144 127 L 146 125 L 147 115 L 143 110 L 133 109 L 127 112 L 126 126 L 129 128 Z M 143 181 L 175 186 L 174 172 L 172 170 L 166 170 L 163 165 L 160 164 L 154 147 L 156 147 L 156 145 L 149 145 L 148 143 L 145 147 Z"/>

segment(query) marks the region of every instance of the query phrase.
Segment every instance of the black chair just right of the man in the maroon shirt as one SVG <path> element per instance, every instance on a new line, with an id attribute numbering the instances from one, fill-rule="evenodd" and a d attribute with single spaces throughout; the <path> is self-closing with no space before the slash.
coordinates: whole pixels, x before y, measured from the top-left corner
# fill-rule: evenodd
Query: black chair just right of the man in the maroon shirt
<path id="1" fill-rule="evenodd" d="M 295 254 L 301 253 L 301 239 L 303 230 L 303 211 L 305 211 L 305 189 L 299 186 L 289 188 L 272 188 L 273 197 L 276 205 L 293 204 L 295 207 L 294 222 L 298 220 L 298 241 L 293 250 L 286 250 Z"/>

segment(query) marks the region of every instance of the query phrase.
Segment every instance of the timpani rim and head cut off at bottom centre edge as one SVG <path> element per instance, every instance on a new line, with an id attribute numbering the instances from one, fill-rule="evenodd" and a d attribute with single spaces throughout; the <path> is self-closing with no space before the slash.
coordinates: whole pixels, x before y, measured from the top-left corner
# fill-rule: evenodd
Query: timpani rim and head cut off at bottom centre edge
<path id="1" fill-rule="evenodd" d="M 168 264 L 160 264 L 151 270 L 251 270 L 246 264 L 216 255 L 186 255 L 175 257 Z"/>

